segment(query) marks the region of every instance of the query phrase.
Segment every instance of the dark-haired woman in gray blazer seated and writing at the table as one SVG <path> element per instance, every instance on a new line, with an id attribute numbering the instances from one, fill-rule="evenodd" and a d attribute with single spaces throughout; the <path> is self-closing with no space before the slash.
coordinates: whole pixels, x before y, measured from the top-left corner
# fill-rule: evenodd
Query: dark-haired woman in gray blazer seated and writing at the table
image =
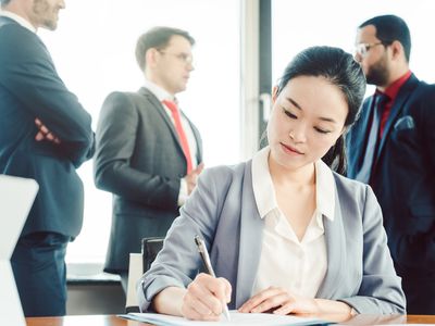
<path id="1" fill-rule="evenodd" d="M 405 313 L 373 191 L 337 173 L 364 91 L 350 54 L 299 53 L 273 90 L 269 147 L 200 176 L 139 281 L 141 311 L 203 321 L 219 319 L 227 303 L 277 314 Z M 198 274 L 196 235 L 219 278 Z"/>

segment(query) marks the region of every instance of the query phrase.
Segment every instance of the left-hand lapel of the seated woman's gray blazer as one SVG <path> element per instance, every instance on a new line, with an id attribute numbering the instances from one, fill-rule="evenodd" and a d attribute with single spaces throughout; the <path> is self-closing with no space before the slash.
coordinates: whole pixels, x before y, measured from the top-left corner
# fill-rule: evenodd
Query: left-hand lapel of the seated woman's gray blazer
<path id="1" fill-rule="evenodd" d="M 251 162 L 246 165 L 244 187 L 241 195 L 245 204 L 240 212 L 240 243 L 237 272 L 236 306 L 245 303 L 252 292 L 257 269 L 261 255 L 264 221 L 257 210 L 256 198 L 252 190 Z"/>

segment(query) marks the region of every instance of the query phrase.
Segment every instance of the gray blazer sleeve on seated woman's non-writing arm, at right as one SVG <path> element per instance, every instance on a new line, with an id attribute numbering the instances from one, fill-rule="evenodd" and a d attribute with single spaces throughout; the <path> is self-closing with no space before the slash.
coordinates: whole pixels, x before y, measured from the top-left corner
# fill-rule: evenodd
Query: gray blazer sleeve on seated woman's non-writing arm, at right
<path id="1" fill-rule="evenodd" d="M 359 313 L 406 313 L 401 279 L 396 275 L 387 247 L 381 206 L 372 189 L 365 187 L 362 281 L 357 296 L 340 301 L 347 302 Z"/>

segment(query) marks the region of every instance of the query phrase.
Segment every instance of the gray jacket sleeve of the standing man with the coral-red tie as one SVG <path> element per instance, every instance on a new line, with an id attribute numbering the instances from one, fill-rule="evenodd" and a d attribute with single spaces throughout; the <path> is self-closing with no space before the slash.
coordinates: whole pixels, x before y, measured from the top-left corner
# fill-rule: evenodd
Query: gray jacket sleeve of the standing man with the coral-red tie
<path id="1" fill-rule="evenodd" d="M 97 127 L 95 183 L 102 190 L 160 209 L 177 209 L 179 178 L 167 178 L 132 167 L 139 113 L 130 95 L 113 92 L 105 99 Z"/>

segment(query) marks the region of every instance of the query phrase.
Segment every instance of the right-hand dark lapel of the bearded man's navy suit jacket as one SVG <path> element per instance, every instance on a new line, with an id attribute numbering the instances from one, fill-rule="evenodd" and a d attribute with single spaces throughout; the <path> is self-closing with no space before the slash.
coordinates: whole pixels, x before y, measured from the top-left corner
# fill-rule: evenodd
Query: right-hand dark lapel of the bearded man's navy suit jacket
<path id="1" fill-rule="evenodd" d="M 405 83 L 405 85 L 400 88 L 399 93 L 396 97 L 396 100 L 393 103 L 391 111 L 389 112 L 389 116 L 387 123 L 385 124 L 384 134 L 382 135 L 382 139 L 380 146 L 377 148 L 375 160 L 377 161 L 382 150 L 384 149 L 385 141 L 389 138 L 389 133 L 391 131 L 391 127 L 396 122 L 398 115 L 403 110 L 405 104 L 409 97 L 411 96 L 412 91 L 419 85 L 419 79 L 414 75 L 411 75 L 409 80 Z"/>

